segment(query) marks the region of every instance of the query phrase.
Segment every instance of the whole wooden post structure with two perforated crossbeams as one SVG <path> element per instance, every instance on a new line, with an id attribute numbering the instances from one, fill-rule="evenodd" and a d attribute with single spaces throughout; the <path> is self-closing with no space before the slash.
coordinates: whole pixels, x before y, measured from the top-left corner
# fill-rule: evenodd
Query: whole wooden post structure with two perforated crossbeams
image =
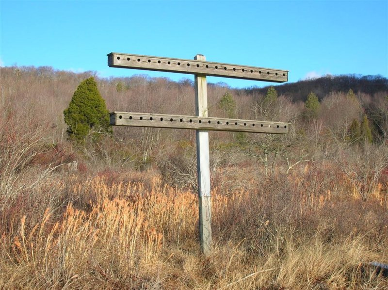
<path id="1" fill-rule="evenodd" d="M 288 134 L 290 123 L 209 117 L 206 76 L 285 82 L 288 81 L 288 71 L 207 62 L 205 56 L 201 54 L 197 54 L 194 60 L 186 60 L 112 52 L 108 54 L 108 65 L 119 68 L 194 74 L 195 116 L 113 112 L 110 114 L 110 124 L 196 130 L 199 240 L 201 252 L 209 256 L 211 253 L 211 194 L 208 131 Z"/>

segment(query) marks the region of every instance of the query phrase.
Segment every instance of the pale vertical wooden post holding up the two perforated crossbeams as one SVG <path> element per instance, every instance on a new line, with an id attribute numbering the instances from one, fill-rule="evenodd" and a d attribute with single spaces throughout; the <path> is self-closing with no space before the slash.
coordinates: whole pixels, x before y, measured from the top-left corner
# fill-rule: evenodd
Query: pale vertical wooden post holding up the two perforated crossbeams
<path id="1" fill-rule="evenodd" d="M 205 61 L 205 56 L 197 54 L 194 60 Z M 206 76 L 194 75 L 195 114 L 208 116 L 208 93 Z M 196 130 L 198 205 L 199 205 L 199 239 L 201 251 L 205 256 L 211 252 L 211 197 L 210 197 L 210 161 L 209 132 Z"/>

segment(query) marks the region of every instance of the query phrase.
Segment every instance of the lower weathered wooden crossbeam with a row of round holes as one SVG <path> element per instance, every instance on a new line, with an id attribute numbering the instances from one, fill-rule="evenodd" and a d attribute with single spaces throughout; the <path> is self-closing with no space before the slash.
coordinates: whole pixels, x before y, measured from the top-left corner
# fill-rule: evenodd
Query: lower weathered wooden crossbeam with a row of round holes
<path id="1" fill-rule="evenodd" d="M 290 123 L 196 117 L 153 113 L 113 112 L 110 124 L 114 126 L 156 127 L 175 129 L 237 131 L 250 133 L 288 134 Z"/>

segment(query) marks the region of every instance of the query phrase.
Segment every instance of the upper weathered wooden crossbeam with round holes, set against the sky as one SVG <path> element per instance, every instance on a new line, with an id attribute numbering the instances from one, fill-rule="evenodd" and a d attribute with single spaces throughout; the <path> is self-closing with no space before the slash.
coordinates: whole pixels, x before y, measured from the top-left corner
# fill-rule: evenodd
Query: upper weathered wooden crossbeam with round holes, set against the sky
<path id="1" fill-rule="evenodd" d="M 108 54 L 108 65 L 255 81 L 288 81 L 288 70 L 118 52 Z"/>

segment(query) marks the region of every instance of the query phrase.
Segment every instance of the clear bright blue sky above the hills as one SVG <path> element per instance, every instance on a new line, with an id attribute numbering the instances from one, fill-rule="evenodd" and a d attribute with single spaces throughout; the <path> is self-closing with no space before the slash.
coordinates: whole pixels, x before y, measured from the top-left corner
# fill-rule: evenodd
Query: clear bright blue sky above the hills
<path id="1" fill-rule="evenodd" d="M 289 70 L 289 81 L 325 74 L 388 77 L 388 0 L 0 0 L 0 64 L 52 66 L 100 77 L 110 52 Z M 267 82 L 208 79 L 232 87 Z"/>

